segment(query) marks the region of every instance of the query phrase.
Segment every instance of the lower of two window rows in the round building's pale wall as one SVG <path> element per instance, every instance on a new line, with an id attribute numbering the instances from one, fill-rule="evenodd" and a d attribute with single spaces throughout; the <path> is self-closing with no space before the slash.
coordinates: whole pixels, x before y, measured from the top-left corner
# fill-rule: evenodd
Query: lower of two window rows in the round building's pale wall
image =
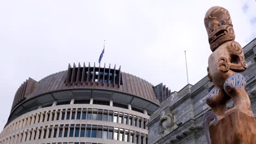
<path id="1" fill-rule="evenodd" d="M 25 142 L 56 137 L 92 137 L 98 139 L 118 140 L 140 144 L 148 141 L 147 135 L 138 131 L 91 124 L 60 124 L 24 130 L 18 135 L 5 140 L 10 143 Z M 0 143 L 3 143 L 0 142 Z"/>

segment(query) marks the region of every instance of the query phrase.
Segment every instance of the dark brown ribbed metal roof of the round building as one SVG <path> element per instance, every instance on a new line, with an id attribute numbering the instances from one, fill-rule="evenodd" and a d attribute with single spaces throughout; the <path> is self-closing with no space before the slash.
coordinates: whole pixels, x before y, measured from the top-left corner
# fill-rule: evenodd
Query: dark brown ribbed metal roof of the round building
<path id="1" fill-rule="evenodd" d="M 65 89 L 106 89 L 136 95 L 159 104 L 154 92 L 154 86 L 137 76 L 121 72 L 121 68 L 113 69 L 101 67 L 78 67 L 68 65 L 68 70 L 46 76 L 39 82 L 28 79 L 15 94 L 13 107 L 26 99 L 36 97 L 49 92 L 62 91 Z"/>

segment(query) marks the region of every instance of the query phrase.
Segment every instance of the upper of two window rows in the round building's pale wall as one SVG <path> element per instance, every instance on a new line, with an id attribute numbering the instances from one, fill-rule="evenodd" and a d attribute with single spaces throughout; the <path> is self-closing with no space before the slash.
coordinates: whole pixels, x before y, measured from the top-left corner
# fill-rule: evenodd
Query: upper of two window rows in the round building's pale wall
<path id="1" fill-rule="evenodd" d="M 114 123 L 129 124 L 134 127 L 146 129 L 148 120 L 139 116 L 131 115 L 118 111 L 103 110 L 103 109 L 87 109 L 87 108 L 73 108 L 73 109 L 59 109 L 52 111 L 44 111 L 36 113 L 25 119 L 21 119 L 6 128 L 1 136 L 16 130 L 21 127 L 26 127 L 34 123 L 42 123 L 49 121 L 59 121 L 68 119 L 88 119 L 95 121 L 108 121 Z"/>

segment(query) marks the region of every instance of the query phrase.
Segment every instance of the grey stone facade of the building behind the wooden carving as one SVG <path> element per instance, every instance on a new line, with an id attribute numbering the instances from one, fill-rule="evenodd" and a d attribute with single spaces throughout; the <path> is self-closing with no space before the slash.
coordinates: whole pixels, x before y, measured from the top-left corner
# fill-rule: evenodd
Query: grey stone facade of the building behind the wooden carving
<path id="1" fill-rule="evenodd" d="M 243 48 L 248 69 L 242 74 L 246 77 L 246 91 L 251 99 L 251 107 L 256 116 L 256 39 Z M 213 88 L 213 83 L 204 77 L 194 86 L 187 85 L 179 92 L 172 92 L 169 97 L 161 101 L 160 107 L 150 116 L 149 139 L 150 144 L 165 143 L 206 143 L 205 131 L 203 127 L 203 114 L 211 111 L 206 104 L 206 95 Z M 182 125 L 173 129 L 166 135 L 161 135 L 159 123 L 160 113 L 166 107 L 171 107 Z M 228 102 L 228 107 L 232 107 L 232 101 Z"/>

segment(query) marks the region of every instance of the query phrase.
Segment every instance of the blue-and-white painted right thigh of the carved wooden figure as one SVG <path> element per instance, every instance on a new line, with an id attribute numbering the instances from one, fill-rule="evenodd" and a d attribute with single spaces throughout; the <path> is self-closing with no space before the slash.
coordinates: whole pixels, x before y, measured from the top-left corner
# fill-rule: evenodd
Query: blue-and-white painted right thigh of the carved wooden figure
<path id="1" fill-rule="evenodd" d="M 235 73 L 225 81 L 224 88 L 225 88 L 225 91 L 235 91 L 236 89 L 244 88 L 245 85 L 246 85 L 245 77 L 240 73 Z"/>

